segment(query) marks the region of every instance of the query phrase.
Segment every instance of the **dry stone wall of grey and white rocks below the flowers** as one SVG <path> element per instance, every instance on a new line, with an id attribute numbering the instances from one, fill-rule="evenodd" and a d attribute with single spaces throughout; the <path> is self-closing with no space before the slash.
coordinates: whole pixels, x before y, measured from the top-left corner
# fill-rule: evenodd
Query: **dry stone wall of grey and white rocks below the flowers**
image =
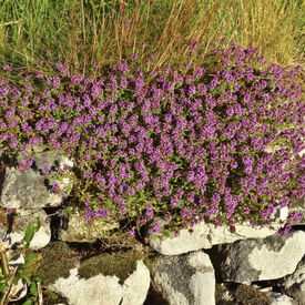
<path id="1" fill-rule="evenodd" d="M 74 162 L 41 146 L 19 155 L 18 162 L 29 156 L 33 163 L 26 173 L 16 164 L 1 162 L 0 237 L 7 248 L 18 245 L 27 225 L 37 218 L 40 228 L 30 248 L 45 255 L 51 252 L 43 250 L 57 242 L 94 244 L 101 233 L 120 228 L 121 224 L 115 222 L 95 221 L 88 226 L 80 211 L 54 222 L 53 211 L 65 205 L 64 199 L 73 190 Z M 68 166 L 67 177 L 45 179 L 44 165 L 54 172 Z M 61 186 L 64 196 L 51 191 L 54 183 Z M 6 213 L 9 210 L 13 210 L 13 217 Z M 96 255 L 85 260 L 75 254 L 74 260 L 61 267 L 64 276 L 59 273 L 45 283 L 65 299 L 53 304 L 305 305 L 305 223 L 293 226 L 288 234 L 277 234 L 279 221 L 291 211 L 285 207 L 274 215 L 272 228 L 243 224 L 236 225 L 234 233 L 225 226 L 200 223 L 192 234 L 182 230 L 176 237 L 161 240 L 152 237 L 152 225 L 148 225 L 141 238 L 131 237 L 134 238 L 131 252 L 122 252 L 120 257 L 115 256 L 118 253 L 95 252 Z M 304 200 L 293 211 L 304 213 Z M 149 253 L 153 258 L 148 258 Z M 57 254 L 58 261 L 70 257 L 67 253 Z M 52 260 L 50 272 L 58 263 L 57 258 Z M 43 257 L 42 268 L 47 261 Z M 23 262 L 20 257 L 10 265 Z M 116 273 L 111 271 L 113 264 Z M 27 283 L 19 283 L 18 289 L 16 295 L 22 299 Z M 153 299 L 152 291 L 160 296 L 159 301 Z"/>

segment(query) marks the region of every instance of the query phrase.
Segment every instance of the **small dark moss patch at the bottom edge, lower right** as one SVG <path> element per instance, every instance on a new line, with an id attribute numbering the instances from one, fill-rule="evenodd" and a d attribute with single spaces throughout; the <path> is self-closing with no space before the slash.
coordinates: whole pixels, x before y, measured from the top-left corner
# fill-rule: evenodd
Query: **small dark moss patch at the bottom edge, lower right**
<path id="1" fill-rule="evenodd" d="M 236 289 L 236 301 L 241 305 L 270 305 L 272 299 L 250 285 L 240 285 Z"/>

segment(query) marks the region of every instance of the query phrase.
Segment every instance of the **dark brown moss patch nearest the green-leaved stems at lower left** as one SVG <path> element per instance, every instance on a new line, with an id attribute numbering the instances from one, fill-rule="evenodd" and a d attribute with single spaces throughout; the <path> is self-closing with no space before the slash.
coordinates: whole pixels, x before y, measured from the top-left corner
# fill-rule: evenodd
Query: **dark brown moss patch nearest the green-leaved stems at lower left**
<path id="1" fill-rule="evenodd" d="M 68 278 L 70 270 L 75 267 L 77 254 L 63 242 L 53 242 L 41 250 L 42 265 L 38 270 L 38 275 L 42 283 L 48 286 L 58 278 Z"/>

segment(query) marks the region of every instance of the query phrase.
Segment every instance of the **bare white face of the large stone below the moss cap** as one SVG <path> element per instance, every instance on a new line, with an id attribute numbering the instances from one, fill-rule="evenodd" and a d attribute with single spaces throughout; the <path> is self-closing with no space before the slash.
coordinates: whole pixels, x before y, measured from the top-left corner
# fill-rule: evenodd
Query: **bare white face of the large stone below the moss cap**
<path id="1" fill-rule="evenodd" d="M 123 285 L 116 276 L 80 278 L 78 268 L 73 268 L 68 278 L 59 278 L 51 288 L 73 305 L 142 305 L 150 287 L 150 272 L 142 261 L 136 263 L 136 270 Z"/>

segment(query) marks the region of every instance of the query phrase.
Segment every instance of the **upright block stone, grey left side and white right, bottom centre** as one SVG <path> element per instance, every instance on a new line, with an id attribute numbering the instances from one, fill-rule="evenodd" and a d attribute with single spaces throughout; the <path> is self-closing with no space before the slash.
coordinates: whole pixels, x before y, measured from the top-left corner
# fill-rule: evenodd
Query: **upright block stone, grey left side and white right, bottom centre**
<path id="1" fill-rule="evenodd" d="M 215 276 L 207 254 L 202 251 L 157 257 L 153 281 L 170 304 L 215 304 Z"/>

